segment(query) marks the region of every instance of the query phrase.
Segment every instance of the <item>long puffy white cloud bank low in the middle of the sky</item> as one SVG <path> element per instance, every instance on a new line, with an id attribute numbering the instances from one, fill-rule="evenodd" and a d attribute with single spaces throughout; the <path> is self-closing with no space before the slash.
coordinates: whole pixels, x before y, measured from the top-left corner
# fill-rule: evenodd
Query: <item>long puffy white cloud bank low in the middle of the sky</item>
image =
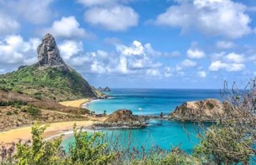
<path id="1" fill-rule="evenodd" d="M 146 48 L 140 41 L 133 41 L 128 46 L 119 44 L 115 47 L 116 51 L 112 53 L 102 50 L 87 53 L 82 51 L 77 55 L 71 55 L 66 62 L 72 66 L 83 67 L 85 72 L 94 74 L 129 74 L 150 77 L 161 74 L 158 68 L 162 64 L 154 61 L 148 55 Z"/>

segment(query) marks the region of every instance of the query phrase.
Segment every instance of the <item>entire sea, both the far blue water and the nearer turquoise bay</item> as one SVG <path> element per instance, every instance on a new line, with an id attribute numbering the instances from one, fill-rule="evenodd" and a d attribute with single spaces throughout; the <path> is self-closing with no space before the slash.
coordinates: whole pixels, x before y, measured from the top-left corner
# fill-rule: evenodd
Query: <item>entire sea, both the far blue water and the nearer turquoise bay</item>
<path id="1" fill-rule="evenodd" d="M 93 101 L 87 105 L 87 108 L 95 111 L 96 114 L 103 113 L 104 110 L 110 114 L 115 110 L 125 108 L 132 110 L 133 114 L 159 115 L 161 112 L 169 114 L 186 101 L 221 99 L 217 89 L 112 89 L 106 94 L 111 97 Z M 140 148 L 146 145 L 147 149 L 156 145 L 162 149 L 171 149 L 179 145 L 184 151 L 190 153 L 199 142 L 196 139 L 198 126 L 193 122 L 184 124 L 169 120 L 149 120 L 148 122 L 150 125 L 147 128 L 102 130 L 102 132 L 106 134 L 106 137 L 118 135 L 121 145 L 127 145 L 127 139 L 131 133 L 132 146 Z M 210 123 L 207 123 L 207 126 L 209 125 Z M 66 137 L 62 145 L 68 149 L 72 141 L 74 137 Z"/>

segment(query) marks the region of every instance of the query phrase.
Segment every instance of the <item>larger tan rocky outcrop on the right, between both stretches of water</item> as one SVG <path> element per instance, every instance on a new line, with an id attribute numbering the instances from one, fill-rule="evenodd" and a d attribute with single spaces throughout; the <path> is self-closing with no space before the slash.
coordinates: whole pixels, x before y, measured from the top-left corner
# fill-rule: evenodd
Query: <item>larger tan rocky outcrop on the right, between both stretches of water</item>
<path id="1" fill-rule="evenodd" d="M 188 101 L 171 112 L 170 118 L 175 120 L 215 121 L 226 115 L 227 103 L 217 99 L 204 101 Z"/>

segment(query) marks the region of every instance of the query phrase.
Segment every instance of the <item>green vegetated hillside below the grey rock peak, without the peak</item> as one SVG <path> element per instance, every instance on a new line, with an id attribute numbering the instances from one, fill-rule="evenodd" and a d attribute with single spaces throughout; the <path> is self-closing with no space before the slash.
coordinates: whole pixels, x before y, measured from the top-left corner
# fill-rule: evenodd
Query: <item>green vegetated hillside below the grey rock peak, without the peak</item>
<path id="1" fill-rule="evenodd" d="M 25 93 L 34 98 L 55 101 L 104 97 L 75 70 L 40 69 L 38 64 L 25 66 L 0 76 L 0 88 Z"/>

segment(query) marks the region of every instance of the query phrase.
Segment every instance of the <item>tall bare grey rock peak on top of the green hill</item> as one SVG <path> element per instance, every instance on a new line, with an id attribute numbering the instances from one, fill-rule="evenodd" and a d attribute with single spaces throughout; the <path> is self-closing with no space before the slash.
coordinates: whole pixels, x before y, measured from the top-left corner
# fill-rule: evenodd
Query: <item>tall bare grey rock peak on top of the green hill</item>
<path id="1" fill-rule="evenodd" d="M 68 68 L 60 57 L 54 37 L 49 33 L 43 37 L 42 43 L 37 47 L 37 54 L 40 68 Z"/>

